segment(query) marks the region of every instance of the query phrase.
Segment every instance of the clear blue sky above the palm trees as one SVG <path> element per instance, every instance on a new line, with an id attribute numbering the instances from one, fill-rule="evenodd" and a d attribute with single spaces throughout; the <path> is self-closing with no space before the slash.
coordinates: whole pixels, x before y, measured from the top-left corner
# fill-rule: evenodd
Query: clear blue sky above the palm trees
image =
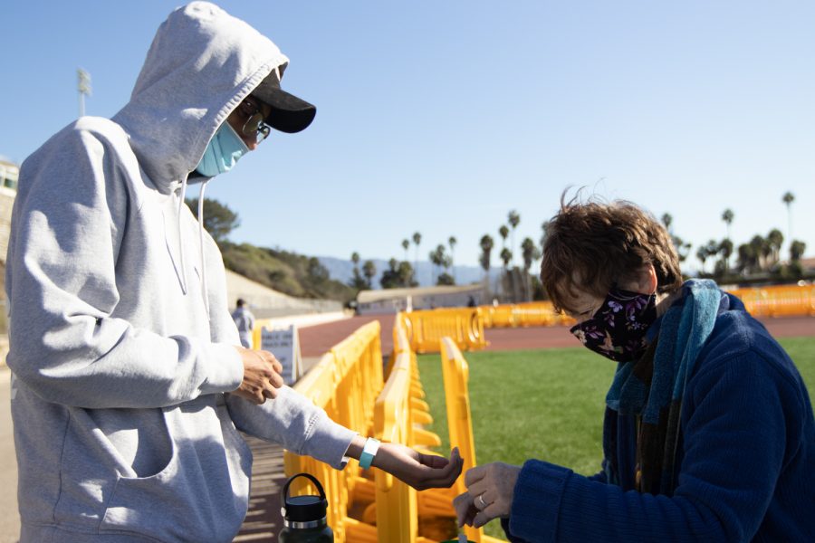
<path id="1" fill-rule="evenodd" d="M 177 5 L 3 3 L 0 155 L 20 162 L 75 119 L 78 67 L 86 112 L 119 110 Z M 424 260 L 453 235 L 455 262 L 477 265 L 510 210 L 515 244 L 537 241 L 564 188 L 587 186 L 673 215 L 694 252 L 731 208 L 736 245 L 791 228 L 815 254 L 813 3 L 220 5 L 281 47 L 283 86 L 318 107 L 207 186 L 240 215 L 236 242 L 388 259 L 419 232 Z"/>

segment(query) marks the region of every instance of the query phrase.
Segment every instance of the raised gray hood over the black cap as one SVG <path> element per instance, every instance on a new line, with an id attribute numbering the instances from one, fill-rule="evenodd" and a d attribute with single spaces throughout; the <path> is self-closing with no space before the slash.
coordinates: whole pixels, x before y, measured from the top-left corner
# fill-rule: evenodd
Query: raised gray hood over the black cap
<path id="1" fill-rule="evenodd" d="M 162 193 L 197 167 L 232 110 L 289 59 L 217 5 L 179 7 L 158 27 L 128 104 L 113 120 Z"/>

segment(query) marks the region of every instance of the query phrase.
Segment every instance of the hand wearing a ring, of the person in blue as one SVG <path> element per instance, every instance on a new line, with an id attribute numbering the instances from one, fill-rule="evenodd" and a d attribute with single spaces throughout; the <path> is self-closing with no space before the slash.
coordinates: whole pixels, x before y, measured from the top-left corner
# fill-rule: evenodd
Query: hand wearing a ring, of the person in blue
<path id="1" fill-rule="evenodd" d="M 467 491 L 455 497 L 458 525 L 481 528 L 492 519 L 509 517 L 513 509 L 515 481 L 521 466 L 493 462 L 465 473 Z"/>

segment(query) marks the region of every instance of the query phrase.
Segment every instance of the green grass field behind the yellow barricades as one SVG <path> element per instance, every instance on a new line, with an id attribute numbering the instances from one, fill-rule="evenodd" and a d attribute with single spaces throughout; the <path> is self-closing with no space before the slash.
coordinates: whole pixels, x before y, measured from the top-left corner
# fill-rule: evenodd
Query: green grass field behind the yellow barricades
<path id="1" fill-rule="evenodd" d="M 779 340 L 815 391 L 815 338 Z M 476 460 L 521 464 L 529 458 L 599 471 L 604 399 L 615 363 L 585 348 L 465 353 Z M 429 428 L 449 450 L 444 383 L 438 354 L 418 357 L 433 414 Z M 503 538 L 497 521 L 485 533 Z"/>

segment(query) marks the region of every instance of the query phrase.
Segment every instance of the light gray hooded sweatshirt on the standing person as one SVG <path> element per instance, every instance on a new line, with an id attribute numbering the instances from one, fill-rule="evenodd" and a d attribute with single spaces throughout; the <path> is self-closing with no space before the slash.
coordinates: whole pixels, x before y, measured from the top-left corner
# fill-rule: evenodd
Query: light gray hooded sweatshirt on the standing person
<path id="1" fill-rule="evenodd" d="M 179 205 L 216 129 L 287 62 L 187 5 L 113 119 L 79 119 L 25 160 L 6 271 L 22 541 L 231 540 L 252 463 L 237 430 L 344 465 L 354 433 L 292 389 L 225 394 L 243 364 L 224 266 Z"/>

